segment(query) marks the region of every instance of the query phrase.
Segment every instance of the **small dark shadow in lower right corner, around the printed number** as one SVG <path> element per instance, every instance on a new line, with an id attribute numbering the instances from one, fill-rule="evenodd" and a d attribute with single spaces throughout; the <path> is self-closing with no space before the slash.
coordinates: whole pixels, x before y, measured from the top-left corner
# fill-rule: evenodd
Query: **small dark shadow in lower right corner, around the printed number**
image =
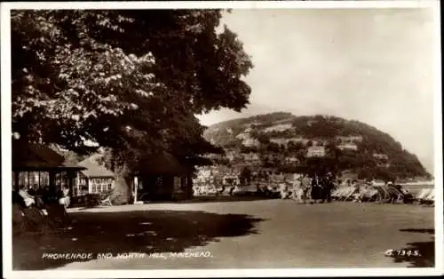
<path id="1" fill-rule="evenodd" d="M 432 228 L 405 228 L 401 232 L 420 233 L 434 235 Z M 404 251 L 404 252 L 403 252 Z M 408 252 L 410 251 L 410 252 Z M 419 255 L 416 255 L 416 252 Z M 410 253 L 410 255 L 408 255 Z M 391 256 L 394 262 L 408 262 L 408 267 L 434 267 L 435 266 L 435 240 L 434 236 L 428 242 L 407 243 L 406 247 L 400 248 Z"/>

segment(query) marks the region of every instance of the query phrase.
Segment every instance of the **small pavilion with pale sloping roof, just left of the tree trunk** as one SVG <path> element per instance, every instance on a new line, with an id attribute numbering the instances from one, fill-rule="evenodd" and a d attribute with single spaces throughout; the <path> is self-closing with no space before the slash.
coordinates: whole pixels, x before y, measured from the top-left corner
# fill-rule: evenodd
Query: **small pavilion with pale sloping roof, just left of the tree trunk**
<path id="1" fill-rule="evenodd" d="M 74 195 L 99 194 L 115 187 L 115 173 L 98 162 L 100 155 L 91 155 L 77 165 L 85 168 L 77 176 Z"/>

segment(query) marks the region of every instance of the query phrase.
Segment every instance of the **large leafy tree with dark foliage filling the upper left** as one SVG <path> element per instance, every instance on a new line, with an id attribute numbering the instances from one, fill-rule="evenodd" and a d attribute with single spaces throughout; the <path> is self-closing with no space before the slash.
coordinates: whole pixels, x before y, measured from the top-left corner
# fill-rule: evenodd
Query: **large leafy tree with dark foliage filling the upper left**
<path id="1" fill-rule="evenodd" d="M 241 110 L 252 63 L 218 10 L 12 11 L 12 129 L 22 140 L 108 147 L 128 182 L 160 148 L 202 154 L 195 115 Z M 181 152 L 178 152 L 181 151 Z"/>

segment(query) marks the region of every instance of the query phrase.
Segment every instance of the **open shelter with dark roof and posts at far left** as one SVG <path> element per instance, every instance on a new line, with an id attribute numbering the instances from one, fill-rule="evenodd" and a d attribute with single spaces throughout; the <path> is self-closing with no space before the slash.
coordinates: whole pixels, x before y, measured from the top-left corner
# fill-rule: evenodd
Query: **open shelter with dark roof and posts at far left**
<path id="1" fill-rule="evenodd" d="M 66 163 L 52 148 L 23 140 L 12 141 L 12 188 L 69 187 L 72 195 L 77 171 L 82 166 Z"/>

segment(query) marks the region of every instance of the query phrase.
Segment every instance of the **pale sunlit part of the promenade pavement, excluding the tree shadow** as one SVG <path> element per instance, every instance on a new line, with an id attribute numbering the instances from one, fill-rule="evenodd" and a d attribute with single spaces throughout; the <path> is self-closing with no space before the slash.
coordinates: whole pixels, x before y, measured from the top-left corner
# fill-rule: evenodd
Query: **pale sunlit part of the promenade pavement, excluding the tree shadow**
<path id="1" fill-rule="evenodd" d="M 253 267 L 408 267 L 385 257 L 388 249 L 430 243 L 432 208 L 404 204 L 295 204 L 269 200 L 238 203 L 146 204 L 97 211 L 207 211 L 249 214 L 257 234 L 220 237 L 202 247 L 198 259 L 91 260 L 63 268 L 253 268 Z M 215 223 L 214 226 L 223 224 Z M 421 244 L 419 244 L 421 245 Z M 418 246 L 422 247 L 422 246 Z M 205 258 L 211 254 L 211 258 Z"/>

